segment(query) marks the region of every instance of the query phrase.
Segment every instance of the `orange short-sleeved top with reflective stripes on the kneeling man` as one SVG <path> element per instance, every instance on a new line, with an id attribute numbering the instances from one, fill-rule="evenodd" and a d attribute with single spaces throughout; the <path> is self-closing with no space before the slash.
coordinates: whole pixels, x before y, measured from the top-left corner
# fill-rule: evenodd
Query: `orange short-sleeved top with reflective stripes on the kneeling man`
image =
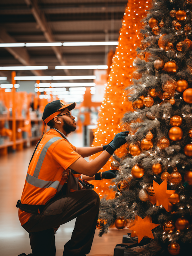
<path id="1" fill-rule="evenodd" d="M 67 180 L 68 167 L 81 157 L 75 150 L 55 129 L 45 133 L 29 165 L 21 203 L 44 205 L 58 193 Z M 21 225 L 30 216 L 19 209 Z"/>

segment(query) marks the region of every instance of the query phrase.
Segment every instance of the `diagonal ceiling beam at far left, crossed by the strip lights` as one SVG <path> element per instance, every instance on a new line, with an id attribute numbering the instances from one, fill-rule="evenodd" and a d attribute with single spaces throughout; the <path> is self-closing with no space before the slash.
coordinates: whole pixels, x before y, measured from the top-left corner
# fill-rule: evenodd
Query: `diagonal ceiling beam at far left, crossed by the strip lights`
<path id="1" fill-rule="evenodd" d="M 0 28 L 0 43 L 16 43 L 16 41 L 3 28 Z M 34 62 L 30 60 L 28 51 L 24 47 L 4 47 L 24 66 L 34 66 Z M 31 70 L 34 75 L 42 75 L 41 70 Z"/>

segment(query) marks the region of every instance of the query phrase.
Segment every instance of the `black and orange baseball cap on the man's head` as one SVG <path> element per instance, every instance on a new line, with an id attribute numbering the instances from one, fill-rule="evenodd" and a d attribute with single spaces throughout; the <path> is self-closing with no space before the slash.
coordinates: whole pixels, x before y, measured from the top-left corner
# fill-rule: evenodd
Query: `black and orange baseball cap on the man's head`
<path id="1" fill-rule="evenodd" d="M 45 106 L 42 119 L 44 123 L 47 124 L 55 116 L 59 115 L 65 108 L 68 108 L 68 110 L 70 111 L 75 108 L 75 105 L 75 102 L 66 104 L 61 100 L 50 102 Z"/>

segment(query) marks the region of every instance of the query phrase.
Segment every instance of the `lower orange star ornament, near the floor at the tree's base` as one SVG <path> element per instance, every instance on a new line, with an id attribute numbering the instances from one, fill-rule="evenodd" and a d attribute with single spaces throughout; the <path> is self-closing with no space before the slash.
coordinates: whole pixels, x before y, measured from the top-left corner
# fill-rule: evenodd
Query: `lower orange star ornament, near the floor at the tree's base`
<path id="1" fill-rule="evenodd" d="M 143 239 L 144 236 L 148 236 L 150 238 L 154 239 L 152 229 L 159 226 L 159 224 L 155 224 L 151 222 L 151 217 L 146 216 L 144 219 L 142 219 L 140 216 L 135 216 L 135 224 L 133 224 L 129 229 L 137 232 L 138 236 L 138 243 Z"/>

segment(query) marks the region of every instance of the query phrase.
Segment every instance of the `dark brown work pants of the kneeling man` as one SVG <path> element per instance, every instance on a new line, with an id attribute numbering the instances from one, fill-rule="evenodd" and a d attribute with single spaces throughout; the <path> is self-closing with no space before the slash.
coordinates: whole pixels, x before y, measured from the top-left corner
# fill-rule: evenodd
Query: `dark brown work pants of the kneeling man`
<path id="1" fill-rule="evenodd" d="M 63 256 L 84 256 L 91 250 L 99 213 L 99 196 L 91 189 L 78 190 L 57 198 L 41 215 L 31 215 L 23 225 L 28 231 L 34 256 L 55 256 L 53 227 L 76 218 L 71 240 L 64 246 Z"/>

